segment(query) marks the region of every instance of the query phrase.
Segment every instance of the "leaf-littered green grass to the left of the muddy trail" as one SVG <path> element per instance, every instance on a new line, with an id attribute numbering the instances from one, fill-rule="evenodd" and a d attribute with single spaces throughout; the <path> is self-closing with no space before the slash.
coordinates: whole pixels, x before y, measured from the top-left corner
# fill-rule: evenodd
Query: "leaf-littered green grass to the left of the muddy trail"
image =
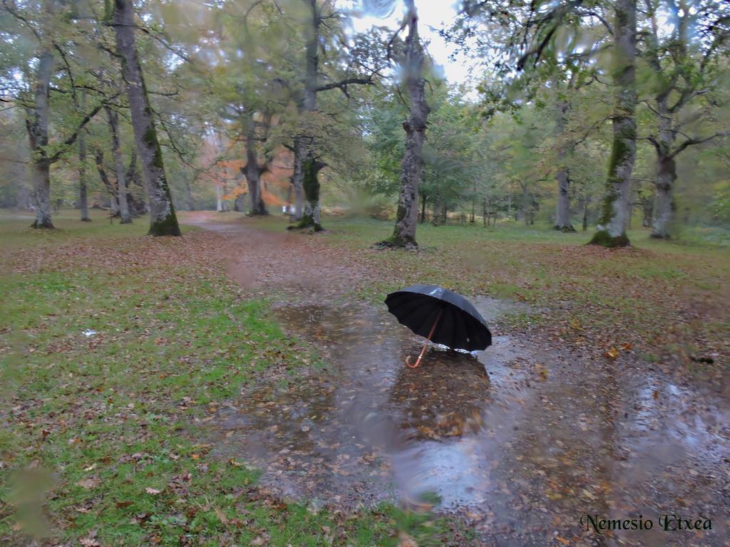
<path id="1" fill-rule="evenodd" d="M 1 544 L 465 537 L 453 522 L 393 505 L 343 513 L 285 503 L 257 489 L 246 462 L 212 457 L 200 424 L 261 376 L 296 378 L 311 350 L 223 276 L 215 236 L 186 227 L 190 237 L 144 238 L 143 220 L 55 222 L 53 232 L 0 222 L 10 270 L 0 278 Z"/>

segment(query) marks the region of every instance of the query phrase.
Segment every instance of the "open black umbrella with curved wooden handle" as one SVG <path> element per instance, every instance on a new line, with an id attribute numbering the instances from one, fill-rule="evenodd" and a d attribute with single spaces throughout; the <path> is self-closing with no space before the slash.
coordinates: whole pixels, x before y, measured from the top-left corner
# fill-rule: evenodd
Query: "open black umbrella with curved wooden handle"
<path id="1" fill-rule="evenodd" d="M 401 325 L 426 336 L 426 344 L 415 365 L 410 364 L 410 357 L 406 360 L 411 368 L 420 365 L 429 341 L 469 352 L 492 344 L 492 335 L 483 317 L 458 292 L 437 285 L 412 285 L 391 292 L 385 303 Z"/>

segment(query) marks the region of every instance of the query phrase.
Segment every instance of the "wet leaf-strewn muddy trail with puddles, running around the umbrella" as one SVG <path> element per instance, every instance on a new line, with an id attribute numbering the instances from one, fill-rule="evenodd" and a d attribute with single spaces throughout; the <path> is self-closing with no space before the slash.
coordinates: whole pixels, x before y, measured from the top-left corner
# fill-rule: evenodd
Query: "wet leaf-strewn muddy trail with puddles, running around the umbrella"
<path id="1" fill-rule="evenodd" d="M 266 295 L 283 328 L 327 363 L 297 381 L 264 382 L 209 423 L 215 454 L 261 468 L 273 494 L 345 510 L 435 503 L 484 545 L 730 545 L 726 387 L 494 331 L 484 352 L 434 347 L 410 369 L 405 357 L 422 339 L 385 305 L 347 297 L 369 271 L 316 252 L 326 234 L 264 232 L 211 214 L 187 222 L 228 240 L 231 277 Z M 525 311 L 471 298 L 489 324 Z M 652 528 L 599 533 L 587 515 L 640 515 Z M 711 529 L 672 530 L 664 515 L 705 528 L 709 519 Z"/>

